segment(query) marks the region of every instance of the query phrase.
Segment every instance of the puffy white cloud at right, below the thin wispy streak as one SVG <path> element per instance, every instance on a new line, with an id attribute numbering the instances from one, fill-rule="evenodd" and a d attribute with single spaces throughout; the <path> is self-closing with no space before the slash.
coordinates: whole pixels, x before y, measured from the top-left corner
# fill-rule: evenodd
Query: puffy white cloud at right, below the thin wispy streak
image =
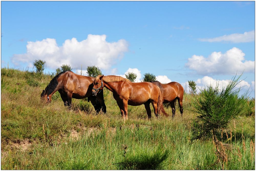
<path id="1" fill-rule="evenodd" d="M 185 66 L 195 70 L 200 75 L 236 74 L 236 72 L 242 73 L 243 71 L 253 73 L 255 61 L 247 61 L 244 59 L 244 56 L 245 54 L 242 50 L 234 47 L 225 54 L 213 52 L 208 58 L 193 55 L 191 58 L 188 58 Z"/>

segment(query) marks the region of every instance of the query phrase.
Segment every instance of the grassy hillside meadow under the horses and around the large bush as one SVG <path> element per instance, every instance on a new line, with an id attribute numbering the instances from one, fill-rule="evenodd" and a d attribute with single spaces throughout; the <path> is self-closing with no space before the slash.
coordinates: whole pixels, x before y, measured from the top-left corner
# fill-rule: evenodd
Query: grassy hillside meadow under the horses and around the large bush
<path id="1" fill-rule="evenodd" d="M 58 92 L 51 103 L 40 94 L 49 74 L 2 68 L 1 70 L 1 169 L 221 169 L 212 141 L 191 142 L 196 117 L 184 94 L 183 117 L 176 103 L 172 119 L 147 119 L 144 105 L 128 106 L 123 120 L 112 92 L 104 88 L 107 113 L 96 114 L 87 99 L 63 105 Z M 248 99 L 242 115 L 223 130 L 228 163 L 224 169 L 255 170 L 255 100 Z"/>

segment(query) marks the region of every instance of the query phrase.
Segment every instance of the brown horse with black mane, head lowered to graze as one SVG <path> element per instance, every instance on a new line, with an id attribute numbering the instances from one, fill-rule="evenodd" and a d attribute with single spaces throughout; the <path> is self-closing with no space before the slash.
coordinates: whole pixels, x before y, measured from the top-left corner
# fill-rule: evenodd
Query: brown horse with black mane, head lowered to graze
<path id="1" fill-rule="evenodd" d="M 96 97 L 91 96 L 93 81 L 95 78 L 81 76 L 72 71 L 64 71 L 55 76 L 48 86 L 43 90 L 41 99 L 51 102 L 51 96 L 59 91 L 60 97 L 65 106 L 71 107 L 72 98 L 84 99 L 88 97 L 95 111 L 98 113 L 102 109 L 106 113 L 106 105 L 103 99 L 103 90 Z"/>

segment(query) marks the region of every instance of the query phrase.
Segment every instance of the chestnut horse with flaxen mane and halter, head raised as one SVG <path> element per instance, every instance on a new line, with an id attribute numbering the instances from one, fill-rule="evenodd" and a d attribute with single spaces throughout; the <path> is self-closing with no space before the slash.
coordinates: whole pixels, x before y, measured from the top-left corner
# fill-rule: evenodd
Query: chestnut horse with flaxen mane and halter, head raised
<path id="1" fill-rule="evenodd" d="M 163 97 L 160 89 L 150 82 L 134 83 L 119 76 L 98 76 L 94 80 L 92 95 L 97 95 L 103 87 L 113 92 L 113 97 L 124 119 L 128 119 L 128 104 L 132 106 L 144 104 L 148 118 L 151 118 L 150 103 L 152 103 L 156 116 L 160 112 L 168 116 L 163 108 Z"/>

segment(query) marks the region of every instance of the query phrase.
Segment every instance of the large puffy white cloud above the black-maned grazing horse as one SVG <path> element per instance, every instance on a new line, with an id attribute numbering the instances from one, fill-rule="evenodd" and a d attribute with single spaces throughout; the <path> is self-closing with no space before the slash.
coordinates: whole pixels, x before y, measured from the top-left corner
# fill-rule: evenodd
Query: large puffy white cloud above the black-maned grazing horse
<path id="1" fill-rule="evenodd" d="M 126 40 L 108 42 L 106 35 L 89 34 L 86 40 L 80 42 L 72 38 L 65 40 L 62 46 L 57 45 L 56 39 L 46 38 L 42 41 L 28 41 L 27 53 L 13 55 L 12 62 L 15 65 L 24 62 L 31 66 L 36 59 L 41 59 L 45 60 L 47 68 L 51 69 L 56 69 L 62 64 L 69 64 L 73 68 L 95 65 L 100 69 L 109 69 L 126 51 Z"/>

